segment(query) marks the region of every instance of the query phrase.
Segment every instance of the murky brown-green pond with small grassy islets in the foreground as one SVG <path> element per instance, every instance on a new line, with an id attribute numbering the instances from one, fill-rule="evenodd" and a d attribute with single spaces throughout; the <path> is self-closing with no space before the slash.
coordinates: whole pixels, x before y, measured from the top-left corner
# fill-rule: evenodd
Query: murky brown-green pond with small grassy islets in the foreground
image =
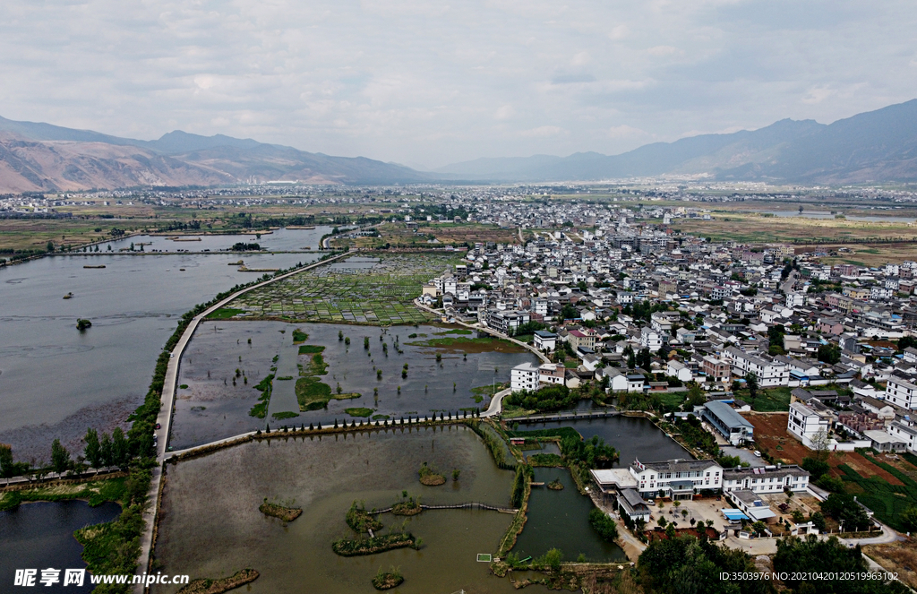
<path id="1" fill-rule="evenodd" d="M 424 487 L 427 462 L 449 475 Z M 352 532 L 344 514 L 354 500 L 368 510 L 390 506 L 402 490 L 427 505 L 509 503 L 511 471 L 500 470 L 481 440 L 464 427 L 398 429 L 319 438 L 248 443 L 170 466 L 156 555 L 163 572 L 223 577 L 243 567 L 261 576 L 251 592 L 366 592 L 380 567 L 398 566 L 405 594 L 514 591 L 493 577 L 479 553 L 493 553 L 513 516 L 486 510 L 426 510 L 404 529 L 424 541 L 419 551 L 340 557 L 331 543 Z M 282 522 L 260 513 L 264 498 L 294 499 L 303 515 Z M 381 515 L 386 526 L 402 517 Z M 155 588 L 154 592 L 174 592 Z M 533 588 L 533 592 L 546 592 Z"/>

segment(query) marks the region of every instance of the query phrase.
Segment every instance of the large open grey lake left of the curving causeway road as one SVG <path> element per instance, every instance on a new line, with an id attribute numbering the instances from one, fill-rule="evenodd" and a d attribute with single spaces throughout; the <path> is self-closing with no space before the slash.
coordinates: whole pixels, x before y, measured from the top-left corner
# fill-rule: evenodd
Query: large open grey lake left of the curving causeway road
<path id="1" fill-rule="evenodd" d="M 299 232 L 304 244 L 321 236 Z M 318 256 L 242 257 L 252 268 L 286 268 Z M 0 443 L 19 459 L 42 459 L 54 437 L 82 449 L 87 427 L 123 423 L 146 393 L 176 316 L 259 276 L 227 265 L 239 257 L 59 256 L 0 268 Z M 67 293 L 73 297 L 63 299 Z M 77 318 L 93 327 L 77 331 Z"/>

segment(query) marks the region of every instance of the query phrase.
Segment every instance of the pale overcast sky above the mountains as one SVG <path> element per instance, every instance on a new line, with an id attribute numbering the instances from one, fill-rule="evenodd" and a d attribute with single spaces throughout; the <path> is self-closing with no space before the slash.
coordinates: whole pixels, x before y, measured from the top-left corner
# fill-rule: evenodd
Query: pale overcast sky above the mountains
<path id="1" fill-rule="evenodd" d="M 0 116 L 417 168 L 917 96 L 910 0 L 3 0 Z"/>

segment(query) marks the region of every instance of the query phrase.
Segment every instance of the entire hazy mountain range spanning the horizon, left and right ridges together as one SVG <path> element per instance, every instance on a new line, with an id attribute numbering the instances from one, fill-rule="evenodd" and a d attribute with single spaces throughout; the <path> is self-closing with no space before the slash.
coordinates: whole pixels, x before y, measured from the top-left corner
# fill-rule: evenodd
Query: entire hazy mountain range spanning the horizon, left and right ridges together
<path id="1" fill-rule="evenodd" d="M 433 172 L 251 139 L 176 130 L 133 140 L 0 118 L 0 192 L 134 186 L 552 182 L 698 175 L 723 181 L 917 181 L 917 99 L 824 125 L 782 119 L 757 130 L 655 142 L 618 155 L 477 159 Z"/>

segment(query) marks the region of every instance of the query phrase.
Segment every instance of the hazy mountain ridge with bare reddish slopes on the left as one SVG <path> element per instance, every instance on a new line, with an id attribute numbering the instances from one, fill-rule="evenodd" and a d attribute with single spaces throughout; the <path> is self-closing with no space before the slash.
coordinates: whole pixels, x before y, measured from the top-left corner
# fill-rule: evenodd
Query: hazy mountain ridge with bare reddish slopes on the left
<path id="1" fill-rule="evenodd" d="M 249 180 L 387 185 L 426 181 L 409 167 L 175 130 L 134 140 L 0 118 L 0 193 Z"/>

